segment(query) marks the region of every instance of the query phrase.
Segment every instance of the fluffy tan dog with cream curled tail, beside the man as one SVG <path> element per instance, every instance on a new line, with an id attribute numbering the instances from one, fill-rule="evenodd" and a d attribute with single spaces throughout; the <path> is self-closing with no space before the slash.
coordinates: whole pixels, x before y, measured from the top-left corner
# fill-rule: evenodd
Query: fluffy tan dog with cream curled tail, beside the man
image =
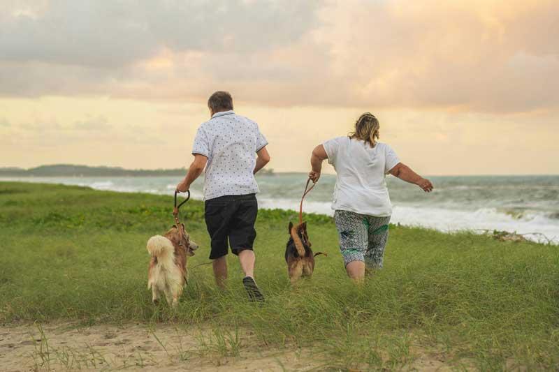
<path id="1" fill-rule="evenodd" d="M 187 258 L 194 255 L 198 244 L 190 240 L 184 223 L 173 225 L 164 236 L 155 235 L 147 241 L 152 256 L 147 272 L 147 288 L 152 289 L 152 301 L 159 302 L 161 292 L 168 304 L 177 306 L 184 285 L 188 281 Z"/>

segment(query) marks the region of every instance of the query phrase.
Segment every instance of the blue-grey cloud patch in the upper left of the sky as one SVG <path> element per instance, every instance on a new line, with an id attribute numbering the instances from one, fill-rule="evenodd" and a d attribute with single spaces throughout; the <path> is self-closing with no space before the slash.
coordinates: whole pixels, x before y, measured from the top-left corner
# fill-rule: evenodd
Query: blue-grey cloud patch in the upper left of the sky
<path id="1" fill-rule="evenodd" d="M 164 48 L 246 53 L 291 43 L 317 1 L 64 1 L 13 3 L 0 23 L 6 61 L 120 68 Z"/>

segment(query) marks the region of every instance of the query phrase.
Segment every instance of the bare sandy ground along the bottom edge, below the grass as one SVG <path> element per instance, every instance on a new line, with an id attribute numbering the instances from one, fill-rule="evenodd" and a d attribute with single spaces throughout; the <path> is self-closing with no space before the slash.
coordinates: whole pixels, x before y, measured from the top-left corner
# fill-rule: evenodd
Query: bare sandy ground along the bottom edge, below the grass
<path id="1" fill-rule="evenodd" d="M 181 325 L 70 323 L 0 327 L 0 371 L 336 371 L 312 350 L 259 350 L 254 337 Z M 158 341 L 159 340 L 159 341 Z M 252 346 L 251 346 L 252 345 Z M 414 350 L 409 371 L 449 371 L 433 354 Z M 357 371 L 357 370 L 353 370 Z"/>

